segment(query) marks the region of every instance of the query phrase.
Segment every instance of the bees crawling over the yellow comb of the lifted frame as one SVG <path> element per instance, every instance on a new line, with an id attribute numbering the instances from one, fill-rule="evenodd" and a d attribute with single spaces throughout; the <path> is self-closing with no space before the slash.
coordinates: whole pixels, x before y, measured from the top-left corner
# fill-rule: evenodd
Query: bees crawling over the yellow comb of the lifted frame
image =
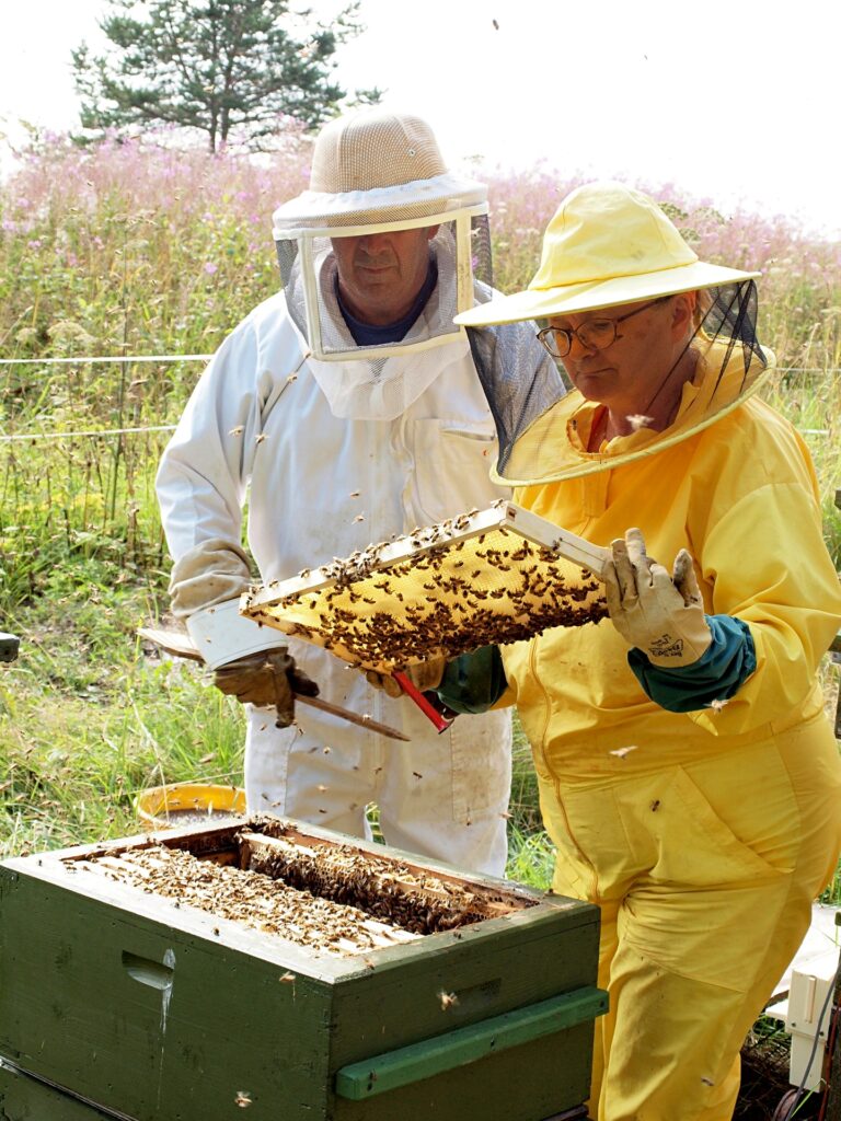
<path id="1" fill-rule="evenodd" d="M 320 587 L 259 604 L 252 593 L 247 613 L 385 673 L 607 617 L 590 573 L 506 526 L 470 536 L 478 512 L 334 557 L 318 569 Z M 395 541 L 408 555 L 383 563 Z"/>

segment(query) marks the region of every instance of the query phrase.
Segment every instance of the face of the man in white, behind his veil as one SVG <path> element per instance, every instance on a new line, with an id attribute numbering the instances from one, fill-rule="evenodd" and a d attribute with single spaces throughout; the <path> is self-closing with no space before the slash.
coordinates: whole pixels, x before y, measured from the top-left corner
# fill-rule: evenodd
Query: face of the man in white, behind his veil
<path id="1" fill-rule="evenodd" d="M 429 241 L 437 226 L 333 238 L 339 290 L 362 323 L 387 326 L 412 308 L 429 270 Z"/>

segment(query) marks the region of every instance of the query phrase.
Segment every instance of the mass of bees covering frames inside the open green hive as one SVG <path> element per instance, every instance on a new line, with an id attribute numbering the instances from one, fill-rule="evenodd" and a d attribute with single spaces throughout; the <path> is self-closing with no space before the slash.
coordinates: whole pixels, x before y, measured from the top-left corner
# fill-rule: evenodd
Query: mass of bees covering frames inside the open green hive
<path id="1" fill-rule="evenodd" d="M 237 863 L 200 859 L 156 842 L 102 854 L 84 870 L 329 954 L 364 954 L 496 918 L 530 901 L 375 858 L 352 845 L 288 833 L 255 817 L 235 836 Z M 73 863 L 75 870 L 75 862 Z M 220 927 L 213 927 L 220 935 Z M 280 981 L 294 986 L 294 974 Z"/>

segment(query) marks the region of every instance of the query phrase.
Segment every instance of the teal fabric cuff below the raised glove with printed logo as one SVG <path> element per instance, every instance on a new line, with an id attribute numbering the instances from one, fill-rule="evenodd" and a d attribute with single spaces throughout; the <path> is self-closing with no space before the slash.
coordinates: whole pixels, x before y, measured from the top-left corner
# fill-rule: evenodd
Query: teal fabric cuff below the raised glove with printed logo
<path id="1" fill-rule="evenodd" d="M 669 712 L 697 712 L 736 696 L 756 669 L 750 628 L 732 615 L 705 615 L 712 642 L 691 666 L 663 669 L 641 650 L 628 651 L 628 665 L 646 694 Z"/>

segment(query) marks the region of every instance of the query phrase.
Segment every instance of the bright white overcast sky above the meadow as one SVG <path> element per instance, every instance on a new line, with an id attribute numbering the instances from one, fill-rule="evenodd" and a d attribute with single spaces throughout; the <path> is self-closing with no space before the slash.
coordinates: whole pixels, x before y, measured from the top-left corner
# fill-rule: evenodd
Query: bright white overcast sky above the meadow
<path id="1" fill-rule="evenodd" d="M 327 21 L 342 4 L 306 6 Z M 70 53 L 103 44 L 105 7 L 0 0 L 12 143 L 21 119 L 77 122 Z M 360 0 L 360 19 L 336 80 L 425 117 L 455 166 L 675 184 L 841 238 L 839 0 Z"/>

